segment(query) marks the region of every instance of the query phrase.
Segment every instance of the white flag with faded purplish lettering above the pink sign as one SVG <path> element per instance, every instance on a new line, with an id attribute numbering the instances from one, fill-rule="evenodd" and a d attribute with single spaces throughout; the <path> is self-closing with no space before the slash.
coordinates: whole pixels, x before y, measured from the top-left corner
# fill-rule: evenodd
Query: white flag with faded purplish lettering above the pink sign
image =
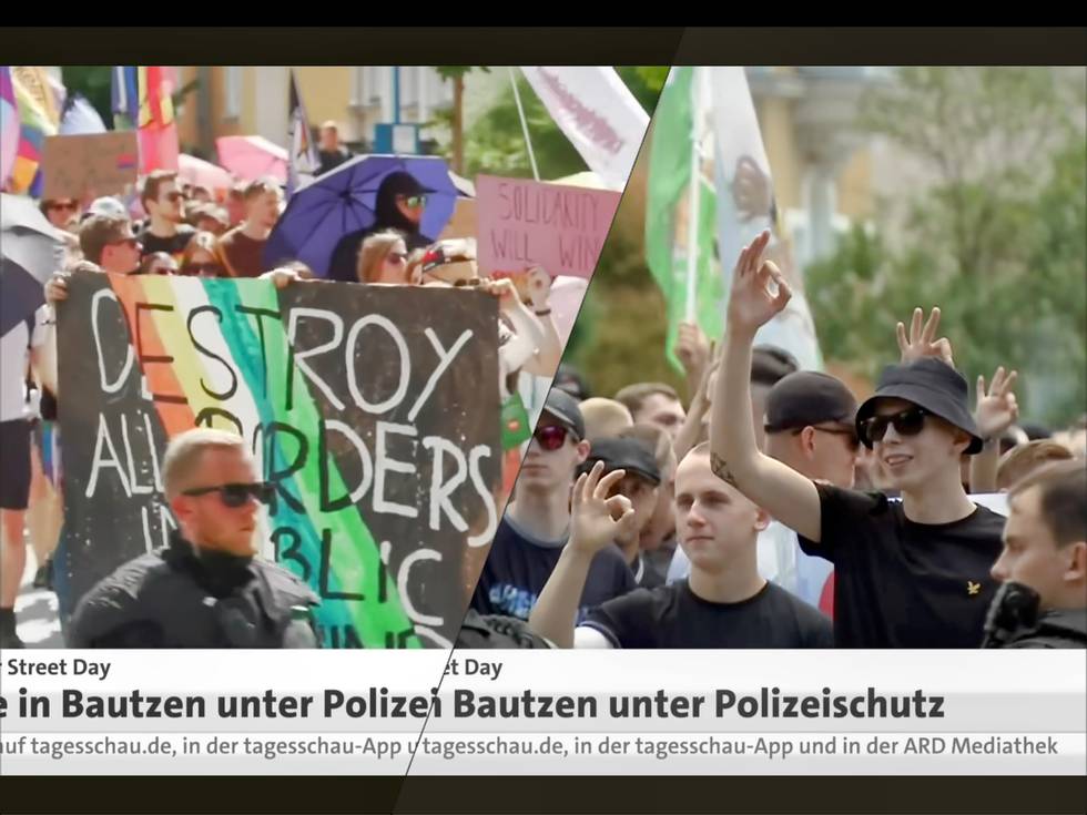
<path id="1" fill-rule="evenodd" d="M 585 163 L 608 189 L 621 192 L 634 166 L 649 114 L 610 65 L 522 67 Z"/>

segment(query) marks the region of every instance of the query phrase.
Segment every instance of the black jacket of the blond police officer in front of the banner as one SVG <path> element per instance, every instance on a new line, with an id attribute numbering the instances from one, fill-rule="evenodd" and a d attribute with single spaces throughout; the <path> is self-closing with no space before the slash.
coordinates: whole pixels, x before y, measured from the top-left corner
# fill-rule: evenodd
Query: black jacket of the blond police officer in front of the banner
<path id="1" fill-rule="evenodd" d="M 181 534 L 98 583 L 71 648 L 316 648 L 317 595 L 286 569 L 197 550 Z"/>

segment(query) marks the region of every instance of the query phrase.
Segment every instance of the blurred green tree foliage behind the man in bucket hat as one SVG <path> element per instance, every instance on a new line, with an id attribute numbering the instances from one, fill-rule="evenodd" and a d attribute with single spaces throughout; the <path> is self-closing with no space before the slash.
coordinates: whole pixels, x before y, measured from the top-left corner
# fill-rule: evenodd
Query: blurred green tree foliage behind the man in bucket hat
<path id="1" fill-rule="evenodd" d="M 874 377 L 894 357 L 894 323 L 938 305 L 968 381 L 1010 366 L 1025 417 L 1081 414 L 1083 118 L 1081 72 L 1036 68 L 904 69 L 868 99 L 862 123 L 918 177 L 807 269 L 824 356 Z"/>

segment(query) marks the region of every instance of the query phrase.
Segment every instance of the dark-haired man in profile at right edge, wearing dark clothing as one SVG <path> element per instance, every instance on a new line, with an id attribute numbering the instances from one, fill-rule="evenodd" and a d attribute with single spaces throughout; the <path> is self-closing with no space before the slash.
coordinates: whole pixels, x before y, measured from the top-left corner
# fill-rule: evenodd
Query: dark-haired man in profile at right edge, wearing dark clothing
<path id="1" fill-rule="evenodd" d="M 1003 585 L 985 623 L 985 648 L 1087 648 L 1087 470 L 1049 465 L 1008 495 Z"/>

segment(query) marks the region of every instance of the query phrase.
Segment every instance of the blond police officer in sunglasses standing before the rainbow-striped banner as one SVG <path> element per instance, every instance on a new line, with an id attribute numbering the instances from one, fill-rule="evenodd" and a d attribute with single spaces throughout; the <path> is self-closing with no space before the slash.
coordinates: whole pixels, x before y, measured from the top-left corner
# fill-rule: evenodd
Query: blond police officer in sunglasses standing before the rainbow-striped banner
<path id="1" fill-rule="evenodd" d="M 291 572 L 254 558 L 257 480 L 241 437 L 195 429 L 163 458 L 180 531 L 80 601 L 73 648 L 316 648 L 317 597 Z"/>

